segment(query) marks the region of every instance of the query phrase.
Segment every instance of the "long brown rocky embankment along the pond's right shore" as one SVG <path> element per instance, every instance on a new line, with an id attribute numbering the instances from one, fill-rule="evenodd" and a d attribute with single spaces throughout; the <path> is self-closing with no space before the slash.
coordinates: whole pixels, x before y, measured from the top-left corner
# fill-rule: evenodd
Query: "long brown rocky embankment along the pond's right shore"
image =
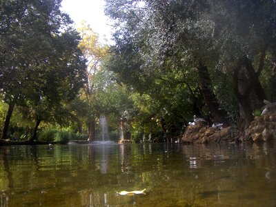
<path id="1" fill-rule="evenodd" d="M 262 115 L 255 117 L 250 126 L 239 133 L 235 126 L 213 128 L 204 123 L 188 126 L 181 138 L 183 143 L 219 143 L 221 141 L 272 141 L 276 139 L 276 103 L 264 100 Z"/>

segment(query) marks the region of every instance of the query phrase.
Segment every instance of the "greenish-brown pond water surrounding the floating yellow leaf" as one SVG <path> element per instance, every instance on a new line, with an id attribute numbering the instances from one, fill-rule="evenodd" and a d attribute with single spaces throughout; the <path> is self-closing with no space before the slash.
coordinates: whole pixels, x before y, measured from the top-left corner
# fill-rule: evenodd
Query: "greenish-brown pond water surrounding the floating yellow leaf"
<path id="1" fill-rule="evenodd" d="M 0 147 L 1 207 L 276 206 L 275 195 L 275 144 Z"/>

